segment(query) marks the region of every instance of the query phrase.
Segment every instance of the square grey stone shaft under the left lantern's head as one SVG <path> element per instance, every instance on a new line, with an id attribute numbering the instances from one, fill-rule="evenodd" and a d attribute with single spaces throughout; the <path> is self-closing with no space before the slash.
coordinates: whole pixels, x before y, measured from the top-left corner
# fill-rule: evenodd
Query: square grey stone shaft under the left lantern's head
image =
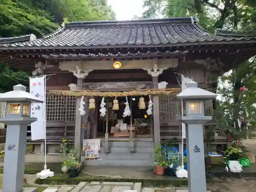
<path id="1" fill-rule="evenodd" d="M 8 125 L 3 192 L 23 191 L 26 143 L 27 125 Z"/>

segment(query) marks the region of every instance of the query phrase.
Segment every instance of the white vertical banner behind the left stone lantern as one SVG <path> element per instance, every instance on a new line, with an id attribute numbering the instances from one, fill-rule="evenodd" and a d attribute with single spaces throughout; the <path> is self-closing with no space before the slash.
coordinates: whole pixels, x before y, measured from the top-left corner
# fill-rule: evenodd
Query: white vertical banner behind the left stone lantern
<path id="1" fill-rule="evenodd" d="M 45 76 L 30 77 L 29 84 L 30 94 L 45 101 Z M 31 104 L 31 117 L 37 118 L 37 121 L 31 123 L 31 140 L 46 138 L 45 110 L 45 103 Z"/>

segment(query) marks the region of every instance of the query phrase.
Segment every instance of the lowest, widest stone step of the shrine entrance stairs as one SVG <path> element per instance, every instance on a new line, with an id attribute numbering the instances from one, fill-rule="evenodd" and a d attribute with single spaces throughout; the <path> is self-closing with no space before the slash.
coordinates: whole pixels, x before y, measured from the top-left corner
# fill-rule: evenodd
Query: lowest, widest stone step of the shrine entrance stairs
<path id="1" fill-rule="evenodd" d="M 109 165 L 109 166 L 153 166 L 154 160 L 151 159 L 96 159 L 85 160 L 85 165 Z"/>

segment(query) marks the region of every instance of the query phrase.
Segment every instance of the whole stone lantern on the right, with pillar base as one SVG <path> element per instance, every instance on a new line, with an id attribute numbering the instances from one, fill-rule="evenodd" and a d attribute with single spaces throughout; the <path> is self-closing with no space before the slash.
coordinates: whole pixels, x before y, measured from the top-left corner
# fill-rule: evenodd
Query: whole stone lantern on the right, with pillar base
<path id="1" fill-rule="evenodd" d="M 188 191 L 206 192 L 203 124 L 212 118 L 204 116 L 204 101 L 215 99 L 217 94 L 198 88 L 195 81 L 186 87 L 177 97 L 186 103 L 186 116 L 180 121 L 186 124 Z"/>

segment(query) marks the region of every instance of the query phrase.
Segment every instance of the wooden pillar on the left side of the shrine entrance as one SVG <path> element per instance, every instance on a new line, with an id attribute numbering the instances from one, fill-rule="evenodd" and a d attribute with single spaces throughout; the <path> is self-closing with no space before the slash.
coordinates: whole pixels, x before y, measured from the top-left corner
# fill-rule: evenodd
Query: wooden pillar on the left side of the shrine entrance
<path id="1" fill-rule="evenodd" d="M 82 90 L 82 78 L 77 78 L 77 89 Z M 79 106 L 80 106 L 81 97 L 76 98 L 76 122 L 75 122 L 75 150 L 77 152 L 78 161 L 81 161 L 81 149 L 82 149 L 82 118 L 80 115 Z"/>

